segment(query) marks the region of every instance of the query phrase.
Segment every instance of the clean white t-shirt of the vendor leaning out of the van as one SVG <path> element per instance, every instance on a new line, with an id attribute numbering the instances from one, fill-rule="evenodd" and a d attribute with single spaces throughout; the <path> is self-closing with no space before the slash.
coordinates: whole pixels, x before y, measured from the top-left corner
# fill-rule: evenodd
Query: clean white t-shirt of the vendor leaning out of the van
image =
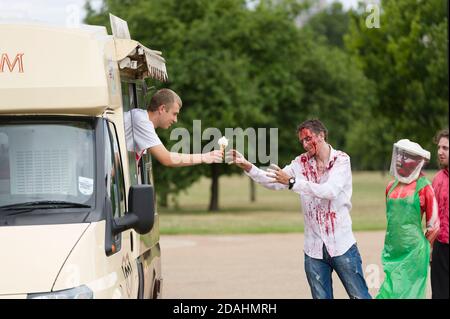
<path id="1" fill-rule="evenodd" d="M 127 150 L 141 154 L 147 148 L 162 144 L 146 110 L 132 109 L 124 113 Z"/>

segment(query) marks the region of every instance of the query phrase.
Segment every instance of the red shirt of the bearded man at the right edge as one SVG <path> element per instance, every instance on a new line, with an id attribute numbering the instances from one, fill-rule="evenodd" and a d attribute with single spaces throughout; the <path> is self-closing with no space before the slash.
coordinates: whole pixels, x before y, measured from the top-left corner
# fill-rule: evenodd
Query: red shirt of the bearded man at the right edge
<path id="1" fill-rule="evenodd" d="M 441 169 L 433 179 L 441 227 L 437 240 L 448 244 L 448 170 Z"/>

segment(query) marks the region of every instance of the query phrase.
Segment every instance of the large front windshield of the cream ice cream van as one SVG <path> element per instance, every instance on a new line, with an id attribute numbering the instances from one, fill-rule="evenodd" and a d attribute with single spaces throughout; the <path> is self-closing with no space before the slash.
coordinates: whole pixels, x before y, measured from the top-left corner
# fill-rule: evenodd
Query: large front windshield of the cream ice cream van
<path id="1" fill-rule="evenodd" d="M 0 209 L 42 202 L 92 207 L 94 136 L 84 121 L 0 122 Z"/>

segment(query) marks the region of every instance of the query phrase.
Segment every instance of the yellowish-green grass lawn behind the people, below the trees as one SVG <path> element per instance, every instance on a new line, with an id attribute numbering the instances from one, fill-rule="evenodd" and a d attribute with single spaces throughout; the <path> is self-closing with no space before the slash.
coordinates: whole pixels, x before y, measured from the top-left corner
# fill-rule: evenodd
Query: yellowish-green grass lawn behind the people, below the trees
<path id="1" fill-rule="evenodd" d="M 432 179 L 435 171 L 427 172 Z M 351 217 L 353 230 L 386 228 L 385 188 L 391 177 L 380 172 L 354 172 Z M 298 195 L 256 185 L 250 202 L 250 179 L 221 177 L 219 212 L 208 212 L 210 180 L 203 178 L 178 197 L 179 207 L 158 208 L 161 234 L 286 233 L 303 231 Z M 157 190 L 157 189 L 156 189 Z"/>

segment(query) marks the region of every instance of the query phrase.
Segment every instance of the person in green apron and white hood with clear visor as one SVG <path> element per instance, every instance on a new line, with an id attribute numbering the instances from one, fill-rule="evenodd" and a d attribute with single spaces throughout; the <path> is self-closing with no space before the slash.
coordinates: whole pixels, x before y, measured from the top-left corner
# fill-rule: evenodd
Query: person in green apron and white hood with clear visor
<path id="1" fill-rule="evenodd" d="M 386 276 L 377 299 L 425 298 L 430 243 L 439 231 L 434 191 L 421 172 L 429 160 L 430 152 L 417 143 L 403 139 L 394 144 L 391 174 L 395 180 L 386 189 L 387 229 L 381 256 Z"/>

